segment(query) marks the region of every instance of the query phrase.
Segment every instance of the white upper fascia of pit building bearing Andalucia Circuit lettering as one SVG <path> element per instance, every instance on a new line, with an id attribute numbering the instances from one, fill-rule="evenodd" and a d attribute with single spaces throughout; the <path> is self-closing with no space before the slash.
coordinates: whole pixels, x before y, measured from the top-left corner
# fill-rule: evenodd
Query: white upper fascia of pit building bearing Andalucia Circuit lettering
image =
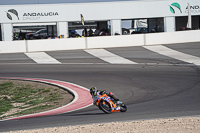
<path id="1" fill-rule="evenodd" d="M 172 0 L 0 5 L 0 23 L 81 21 L 80 14 L 83 14 L 86 21 L 186 16 L 188 1 L 191 6 L 200 5 L 199 0 L 176 0 L 181 6 L 182 13 L 175 7 L 173 8 L 176 13 L 170 11 L 170 5 L 174 3 Z M 10 9 L 15 9 L 18 16 L 9 12 Z M 200 15 L 198 10 L 192 11 L 192 15 Z M 32 13 L 34 13 L 32 16 L 26 15 Z M 51 13 L 51 15 L 38 16 L 38 13 Z M 57 14 L 52 15 L 54 13 Z M 7 17 L 7 14 L 11 15 L 12 20 Z"/>

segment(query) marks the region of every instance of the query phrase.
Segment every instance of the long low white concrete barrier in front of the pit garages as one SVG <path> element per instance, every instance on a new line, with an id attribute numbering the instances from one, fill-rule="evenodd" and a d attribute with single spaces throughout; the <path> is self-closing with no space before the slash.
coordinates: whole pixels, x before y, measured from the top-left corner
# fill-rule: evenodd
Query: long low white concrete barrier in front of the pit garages
<path id="1" fill-rule="evenodd" d="M 88 38 L 1 41 L 0 53 L 128 47 L 200 41 L 200 30 Z"/>

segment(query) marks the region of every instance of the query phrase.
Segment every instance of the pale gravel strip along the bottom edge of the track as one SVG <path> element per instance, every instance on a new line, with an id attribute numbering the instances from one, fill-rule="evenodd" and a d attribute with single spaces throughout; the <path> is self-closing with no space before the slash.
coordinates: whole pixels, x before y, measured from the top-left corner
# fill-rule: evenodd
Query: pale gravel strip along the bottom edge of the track
<path id="1" fill-rule="evenodd" d="M 200 133 L 200 117 L 53 127 L 9 133 Z"/>

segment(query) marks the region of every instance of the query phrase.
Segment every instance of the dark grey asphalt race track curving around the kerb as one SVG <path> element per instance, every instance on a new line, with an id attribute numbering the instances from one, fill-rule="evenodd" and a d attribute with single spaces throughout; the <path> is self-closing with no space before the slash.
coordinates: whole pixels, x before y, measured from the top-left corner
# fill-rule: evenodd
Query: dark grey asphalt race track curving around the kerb
<path id="1" fill-rule="evenodd" d="M 200 43 L 165 45 L 200 57 Z M 112 91 L 128 106 L 125 113 L 104 114 L 97 107 L 0 122 L 0 132 L 55 126 L 200 115 L 200 66 L 143 47 L 106 49 L 138 64 L 109 64 L 78 51 L 47 52 L 63 64 L 36 64 L 24 54 L 0 54 L 1 77 L 66 81 Z M 87 64 L 88 63 L 88 64 Z"/>

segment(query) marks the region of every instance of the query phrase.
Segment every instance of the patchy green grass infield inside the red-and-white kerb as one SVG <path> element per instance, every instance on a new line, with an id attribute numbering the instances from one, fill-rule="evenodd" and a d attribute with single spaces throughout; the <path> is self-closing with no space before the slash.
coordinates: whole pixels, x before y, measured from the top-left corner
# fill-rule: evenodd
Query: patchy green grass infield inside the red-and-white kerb
<path id="1" fill-rule="evenodd" d="M 0 115 L 3 115 L 12 108 L 25 110 L 10 116 L 35 113 L 38 110 L 53 107 L 54 103 L 57 103 L 57 100 L 60 99 L 62 97 L 57 93 L 56 89 L 35 88 L 31 85 L 16 85 L 13 82 L 4 82 L 0 84 Z M 22 103 L 27 106 L 14 107 L 13 103 Z M 8 116 L 3 116 L 2 118 L 4 117 Z"/>

